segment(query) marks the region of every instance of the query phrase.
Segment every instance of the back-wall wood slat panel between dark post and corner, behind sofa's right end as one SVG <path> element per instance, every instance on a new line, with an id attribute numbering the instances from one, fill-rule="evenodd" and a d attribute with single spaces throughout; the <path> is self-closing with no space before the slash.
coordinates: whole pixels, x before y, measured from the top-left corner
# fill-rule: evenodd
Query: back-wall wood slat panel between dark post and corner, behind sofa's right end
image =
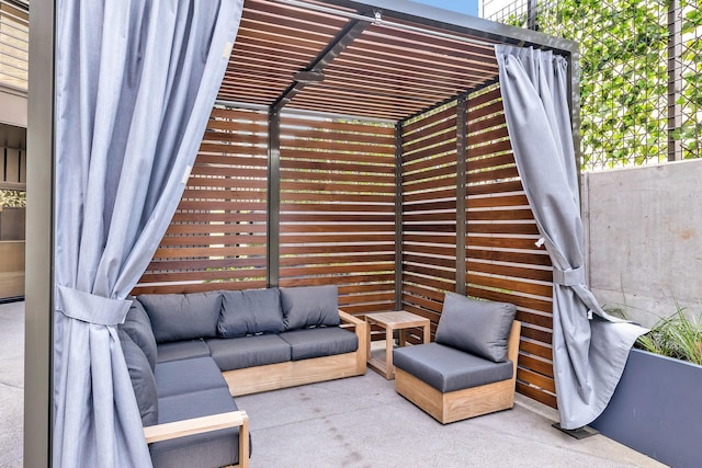
<path id="1" fill-rule="evenodd" d="M 395 309 L 395 129 L 281 118 L 282 287 L 336 284 L 339 307 Z"/>

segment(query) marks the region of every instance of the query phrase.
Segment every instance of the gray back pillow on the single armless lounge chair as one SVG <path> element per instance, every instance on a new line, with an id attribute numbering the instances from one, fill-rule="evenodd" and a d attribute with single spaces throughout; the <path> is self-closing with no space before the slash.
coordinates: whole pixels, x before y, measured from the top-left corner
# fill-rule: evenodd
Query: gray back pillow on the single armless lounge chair
<path id="1" fill-rule="evenodd" d="M 501 363 L 517 309 L 507 303 L 476 300 L 446 293 L 437 328 L 437 343 Z"/>

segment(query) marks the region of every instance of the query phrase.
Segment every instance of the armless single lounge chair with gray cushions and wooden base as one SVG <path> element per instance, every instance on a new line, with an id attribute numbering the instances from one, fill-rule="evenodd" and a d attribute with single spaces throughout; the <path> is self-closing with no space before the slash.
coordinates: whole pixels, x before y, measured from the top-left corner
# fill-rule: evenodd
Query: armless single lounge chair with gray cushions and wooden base
<path id="1" fill-rule="evenodd" d="M 437 341 L 394 351 L 396 391 L 442 424 L 512 408 L 514 313 L 511 304 L 448 293 Z"/>

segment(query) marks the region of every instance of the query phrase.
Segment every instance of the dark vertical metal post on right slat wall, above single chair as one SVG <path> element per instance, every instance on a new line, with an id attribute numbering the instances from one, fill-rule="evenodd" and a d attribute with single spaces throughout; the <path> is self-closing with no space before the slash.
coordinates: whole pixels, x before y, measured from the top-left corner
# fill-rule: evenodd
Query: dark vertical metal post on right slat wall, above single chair
<path id="1" fill-rule="evenodd" d="M 456 104 L 456 293 L 465 296 L 466 165 L 468 156 L 468 96 Z"/>

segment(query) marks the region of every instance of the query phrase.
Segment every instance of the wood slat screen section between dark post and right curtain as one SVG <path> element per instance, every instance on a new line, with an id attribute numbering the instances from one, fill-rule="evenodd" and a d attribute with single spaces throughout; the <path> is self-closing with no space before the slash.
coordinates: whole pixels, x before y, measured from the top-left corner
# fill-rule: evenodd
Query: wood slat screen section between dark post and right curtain
<path id="1" fill-rule="evenodd" d="M 522 321 L 518 391 L 556 407 L 551 260 L 517 172 L 499 88 L 468 95 L 466 293 L 512 303 Z"/>

